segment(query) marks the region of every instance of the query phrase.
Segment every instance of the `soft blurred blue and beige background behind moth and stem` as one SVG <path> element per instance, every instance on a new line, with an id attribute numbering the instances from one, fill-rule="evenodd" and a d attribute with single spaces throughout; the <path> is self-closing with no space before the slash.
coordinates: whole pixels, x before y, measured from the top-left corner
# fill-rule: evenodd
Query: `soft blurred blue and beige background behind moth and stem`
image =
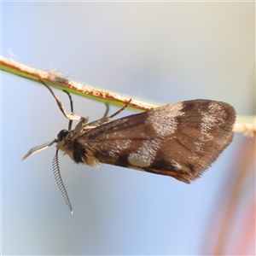
<path id="1" fill-rule="evenodd" d="M 31 67 L 147 102 L 206 98 L 255 114 L 255 3 L 5 2 L 1 21 L 2 55 Z M 67 95 L 55 94 L 68 110 Z M 90 120 L 105 111 L 73 102 Z M 52 172 L 55 147 L 21 162 L 64 128 L 44 86 L 2 73 L 3 254 L 255 253 L 254 138 L 236 134 L 190 185 L 60 154 L 71 215 Z"/>

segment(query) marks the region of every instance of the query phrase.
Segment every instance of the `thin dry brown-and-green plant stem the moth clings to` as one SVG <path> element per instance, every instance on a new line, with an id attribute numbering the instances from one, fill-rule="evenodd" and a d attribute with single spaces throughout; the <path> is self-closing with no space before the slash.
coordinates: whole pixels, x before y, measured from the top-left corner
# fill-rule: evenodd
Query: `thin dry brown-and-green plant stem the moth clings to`
<path id="1" fill-rule="evenodd" d="M 80 84 L 78 82 L 74 82 L 65 78 L 61 78 L 56 73 L 46 72 L 39 70 L 34 67 L 29 67 L 20 62 L 4 58 L 0 56 L 0 69 L 6 71 L 8 73 L 13 73 L 25 79 L 32 79 L 35 82 L 42 84 L 47 83 L 49 86 L 55 87 L 59 90 L 67 90 L 68 92 L 72 92 L 73 94 L 77 94 L 79 96 L 86 96 L 91 99 L 108 102 L 113 105 L 124 105 L 127 102 L 130 102 L 131 96 L 120 96 L 119 94 L 109 92 L 107 90 L 99 90 L 88 86 L 86 84 Z M 129 103 L 128 108 L 135 108 L 139 110 L 149 110 L 151 108 L 155 108 L 157 105 L 149 104 L 147 102 L 141 102 L 132 99 Z M 255 116 L 238 116 L 236 120 L 236 125 L 234 127 L 234 131 L 241 132 L 244 135 L 249 135 L 251 137 L 256 134 L 256 121 Z M 247 118 L 248 121 L 244 121 L 243 119 Z"/>

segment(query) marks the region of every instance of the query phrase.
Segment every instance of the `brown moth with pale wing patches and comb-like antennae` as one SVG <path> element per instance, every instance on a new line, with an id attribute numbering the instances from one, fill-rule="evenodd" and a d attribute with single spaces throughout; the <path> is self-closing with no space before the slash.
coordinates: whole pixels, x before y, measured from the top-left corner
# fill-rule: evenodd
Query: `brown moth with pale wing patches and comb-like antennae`
<path id="1" fill-rule="evenodd" d="M 23 157 L 56 143 L 53 169 L 56 183 L 73 213 L 61 179 L 58 152 L 63 151 L 76 163 L 98 166 L 104 163 L 151 172 L 190 183 L 217 160 L 232 141 L 236 111 L 230 104 L 211 100 L 192 100 L 167 104 L 143 113 L 112 120 L 117 113 L 88 123 L 88 119 L 64 110 L 61 101 L 47 84 L 61 112 L 69 119 L 68 130 L 61 130 L 50 143 L 32 148 Z M 74 130 L 72 121 L 79 120 Z"/>

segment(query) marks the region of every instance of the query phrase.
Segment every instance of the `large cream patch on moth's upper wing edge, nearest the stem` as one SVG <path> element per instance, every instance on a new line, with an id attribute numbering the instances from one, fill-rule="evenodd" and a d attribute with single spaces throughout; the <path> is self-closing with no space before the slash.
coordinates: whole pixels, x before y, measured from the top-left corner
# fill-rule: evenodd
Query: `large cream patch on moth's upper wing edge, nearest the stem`
<path id="1" fill-rule="evenodd" d="M 177 130 L 177 116 L 184 114 L 182 108 L 183 103 L 177 102 L 150 110 L 148 122 L 158 136 L 169 137 Z"/>

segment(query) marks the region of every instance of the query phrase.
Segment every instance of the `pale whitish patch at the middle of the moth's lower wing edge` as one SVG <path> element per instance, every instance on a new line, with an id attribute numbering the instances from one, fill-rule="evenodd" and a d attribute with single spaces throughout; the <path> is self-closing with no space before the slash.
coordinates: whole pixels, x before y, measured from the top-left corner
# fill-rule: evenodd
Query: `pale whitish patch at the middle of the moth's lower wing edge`
<path id="1" fill-rule="evenodd" d="M 128 162 L 131 166 L 148 167 L 154 162 L 154 158 L 159 151 L 160 140 L 148 140 L 136 152 L 129 154 Z"/>

